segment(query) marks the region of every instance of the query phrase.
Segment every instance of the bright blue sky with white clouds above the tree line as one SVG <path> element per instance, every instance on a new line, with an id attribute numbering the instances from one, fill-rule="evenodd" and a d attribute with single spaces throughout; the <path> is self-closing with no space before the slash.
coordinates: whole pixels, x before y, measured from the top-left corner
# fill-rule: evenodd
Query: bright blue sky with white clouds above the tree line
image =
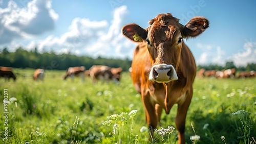
<path id="1" fill-rule="evenodd" d="M 0 0 L 0 50 L 18 46 L 39 52 L 132 59 L 135 43 L 124 38 L 127 23 L 148 27 L 160 13 L 185 25 L 204 16 L 210 27 L 185 40 L 201 65 L 256 63 L 256 1 Z"/>

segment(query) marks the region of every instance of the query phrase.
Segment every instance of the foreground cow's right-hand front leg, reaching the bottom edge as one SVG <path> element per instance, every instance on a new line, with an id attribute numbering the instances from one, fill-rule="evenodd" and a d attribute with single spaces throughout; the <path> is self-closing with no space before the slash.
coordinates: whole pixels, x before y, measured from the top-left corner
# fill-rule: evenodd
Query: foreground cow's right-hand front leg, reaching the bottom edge
<path id="1" fill-rule="evenodd" d="M 187 92 L 185 102 L 181 105 L 178 105 L 175 124 L 178 129 L 179 144 L 185 143 L 185 121 L 186 121 L 187 110 L 191 101 L 192 94 L 193 94 L 193 91 Z"/>

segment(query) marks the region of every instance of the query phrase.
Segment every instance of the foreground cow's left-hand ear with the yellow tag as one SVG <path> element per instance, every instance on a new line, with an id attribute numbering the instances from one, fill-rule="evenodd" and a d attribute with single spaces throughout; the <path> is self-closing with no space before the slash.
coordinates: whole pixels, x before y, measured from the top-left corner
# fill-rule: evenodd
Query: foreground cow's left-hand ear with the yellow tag
<path id="1" fill-rule="evenodd" d="M 134 42 L 142 42 L 147 37 L 147 31 L 135 23 L 123 26 L 122 34 Z"/>

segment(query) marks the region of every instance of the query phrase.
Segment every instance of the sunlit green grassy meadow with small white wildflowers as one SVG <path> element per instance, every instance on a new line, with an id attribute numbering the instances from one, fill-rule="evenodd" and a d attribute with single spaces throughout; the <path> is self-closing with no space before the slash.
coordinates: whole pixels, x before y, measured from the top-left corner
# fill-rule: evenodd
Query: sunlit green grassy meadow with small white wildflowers
<path id="1" fill-rule="evenodd" d="M 63 81 L 64 70 L 47 70 L 44 82 L 32 80 L 33 69 L 14 73 L 16 82 L 0 79 L 0 143 L 178 142 L 176 129 L 148 141 L 143 105 L 129 73 L 123 73 L 120 83 L 96 84 L 89 78 Z M 196 78 L 186 142 L 256 143 L 255 83 L 256 78 Z M 176 105 L 168 115 L 163 111 L 158 129 L 175 127 L 176 111 Z"/>

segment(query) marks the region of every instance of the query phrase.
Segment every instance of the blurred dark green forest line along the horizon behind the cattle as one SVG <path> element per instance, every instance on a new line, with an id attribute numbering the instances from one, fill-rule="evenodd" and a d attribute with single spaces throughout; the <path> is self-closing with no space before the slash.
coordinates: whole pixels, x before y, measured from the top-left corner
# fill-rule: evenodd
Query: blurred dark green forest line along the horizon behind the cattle
<path id="1" fill-rule="evenodd" d="M 108 65 L 110 67 L 122 67 L 127 71 L 131 66 L 132 60 L 126 59 L 110 59 L 110 58 L 91 58 L 88 56 L 76 56 L 74 54 L 61 54 L 57 55 L 51 53 L 38 53 L 35 48 L 32 51 L 24 50 L 23 47 L 18 47 L 15 52 L 9 52 L 8 48 L 0 50 L 0 66 L 8 66 L 14 68 L 44 68 L 44 69 L 57 69 L 65 70 L 72 66 L 85 66 L 89 69 L 92 65 Z M 237 71 L 250 71 L 256 70 L 256 63 L 248 63 L 247 66 L 234 65 L 232 61 L 226 62 L 225 66 L 218 64 L 198 65 L 197 70 L 205 68 L 211 69 L 228 69 L 236 68 Z"/>

